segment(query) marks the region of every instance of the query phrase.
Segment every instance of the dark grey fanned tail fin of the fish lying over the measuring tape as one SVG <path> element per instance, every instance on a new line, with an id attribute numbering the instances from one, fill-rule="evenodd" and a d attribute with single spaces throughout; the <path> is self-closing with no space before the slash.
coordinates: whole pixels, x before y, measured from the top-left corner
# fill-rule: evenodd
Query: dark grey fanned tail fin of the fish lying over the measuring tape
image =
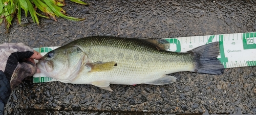
<path id="1" fill-rule="evenodd" d="M 204 74 L 222 75 L 224 66 L 219 59 L 219 42 L 212 42 L 201 47 L 188 51 L 194 55 L 195 72 Z"/>

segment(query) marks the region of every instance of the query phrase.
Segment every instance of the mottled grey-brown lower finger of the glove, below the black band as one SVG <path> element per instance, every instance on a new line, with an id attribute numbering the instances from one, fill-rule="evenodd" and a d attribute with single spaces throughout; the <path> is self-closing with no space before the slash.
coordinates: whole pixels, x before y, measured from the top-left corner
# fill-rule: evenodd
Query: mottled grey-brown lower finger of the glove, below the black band
<path id="1" fill-rule="evenodd" d="M 31 61 L 18 63 L 11 78 L 11 90 L 22 82 L 26 77 L 33 76 L 36 73 L 37 67 Z"/>

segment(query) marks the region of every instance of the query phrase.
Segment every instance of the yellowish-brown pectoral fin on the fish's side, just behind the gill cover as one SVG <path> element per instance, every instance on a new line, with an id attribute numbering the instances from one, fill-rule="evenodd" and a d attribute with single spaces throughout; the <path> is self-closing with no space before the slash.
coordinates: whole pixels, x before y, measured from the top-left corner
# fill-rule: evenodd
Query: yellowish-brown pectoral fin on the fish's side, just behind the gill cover
<path id="1" fill-rule="evenodd" d="M 88 63 L 88 66 L 91 66 L 90 72 L 101 72 L 101 71 L 109 71 L 112 70 L 114 66 L 117 66 L 117 63 L 114 61 L 111 62 L 94 62 L 94 63 Z"/>

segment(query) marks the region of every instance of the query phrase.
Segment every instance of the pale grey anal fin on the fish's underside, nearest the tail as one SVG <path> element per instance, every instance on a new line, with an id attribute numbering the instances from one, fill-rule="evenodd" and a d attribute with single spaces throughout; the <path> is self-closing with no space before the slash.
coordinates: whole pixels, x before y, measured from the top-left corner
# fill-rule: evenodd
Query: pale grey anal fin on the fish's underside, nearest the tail
<path id="1" fill-rule="evenodd" d="M 155 81 L 147 82 L 145 84 L 164 85 L 164 84 L 169 84 L 169 83 L 173 83 L 173 82 L 176 82 L 176 77 L 164 75 L 163 77 L 156 79 Z"/>

